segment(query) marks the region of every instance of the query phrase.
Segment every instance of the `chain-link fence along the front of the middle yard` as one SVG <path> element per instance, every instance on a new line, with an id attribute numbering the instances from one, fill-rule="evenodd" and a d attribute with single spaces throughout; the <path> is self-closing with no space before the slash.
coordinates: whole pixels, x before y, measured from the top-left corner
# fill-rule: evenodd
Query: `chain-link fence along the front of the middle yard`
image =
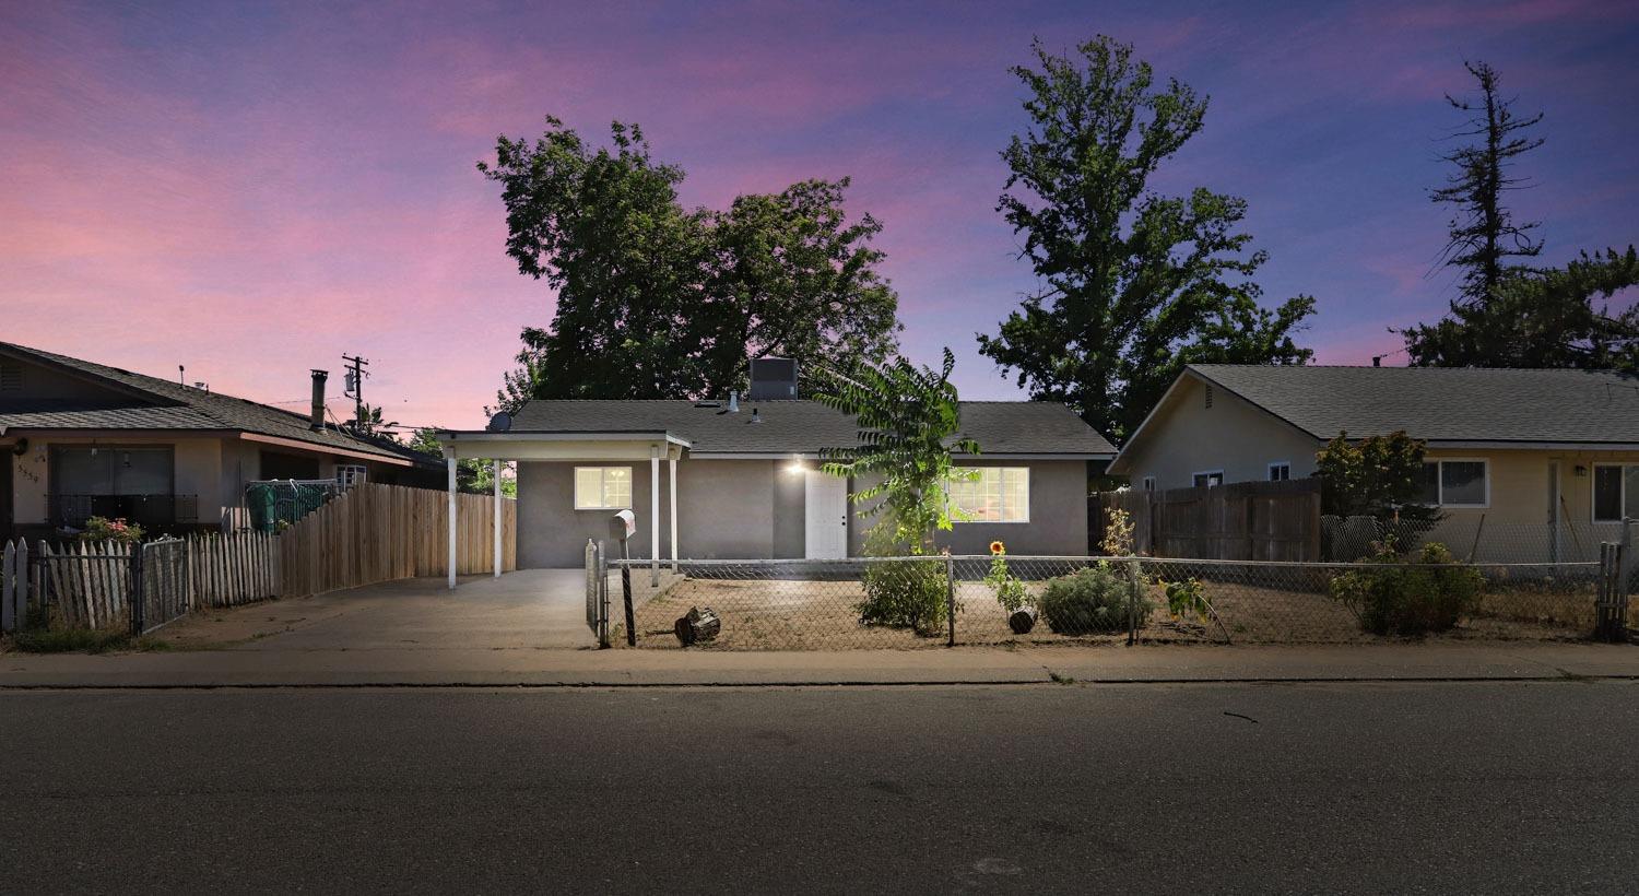
<path id="1" fill-rule="evenodd" d="M 621 565 L 646 572 L 647 560 L 610 560 Z M 639 647 L 695 640 L 726 650 L 1583 639 L 1595 629 L 1600 568 L 1598 560 L 698 560 L 638 604 L 633 629 Z M 680 626 L 692 609 L 695 619 Z M 1639 613 L 1629 609 L 1628 624 L 1639 626 Z M 624 644 L 624 632 L 613 640 Z"/>

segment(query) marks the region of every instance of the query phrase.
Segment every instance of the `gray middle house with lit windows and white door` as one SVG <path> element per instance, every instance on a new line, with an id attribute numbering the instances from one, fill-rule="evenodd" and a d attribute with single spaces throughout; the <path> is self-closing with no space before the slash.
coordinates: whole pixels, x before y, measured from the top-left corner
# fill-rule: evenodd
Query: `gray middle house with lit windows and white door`
<path id="1" fill-rule="evenodd" d="M 633 557 L 654 557 L 651 545 L 662 559 L 859 555 L 872 521 L 849 506 L 857 483 L 820 470 L 820 452 L 856 444 L 859 428 L 790 398 L 793 365 L 775 370 L 744 401 L 529 401 L 500 428 L 441 441 L 454 457 L 518 460 L 520 567 L 580 565 L 620 509 L 638 516 Z M 1088 467 L 1115 457 L 1110 442 L 1037 401 L 964 401 L 962 432 L 978 441 L 980 454 L 962 459 L 978 478 L 954 498 L 974 519 L 941 532 L 942 545 L 1087 554 Z"/>

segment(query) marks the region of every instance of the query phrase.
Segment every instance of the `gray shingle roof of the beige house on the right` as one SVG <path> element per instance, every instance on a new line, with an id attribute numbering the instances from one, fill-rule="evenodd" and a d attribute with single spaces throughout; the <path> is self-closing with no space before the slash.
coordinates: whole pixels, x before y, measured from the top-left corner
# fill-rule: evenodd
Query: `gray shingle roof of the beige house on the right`
<path id="1" fill-rule="evenodd" d="M 1190 365 L 1314 436 L 1639 444 L 1639 378 L 1605 370 Z"/>

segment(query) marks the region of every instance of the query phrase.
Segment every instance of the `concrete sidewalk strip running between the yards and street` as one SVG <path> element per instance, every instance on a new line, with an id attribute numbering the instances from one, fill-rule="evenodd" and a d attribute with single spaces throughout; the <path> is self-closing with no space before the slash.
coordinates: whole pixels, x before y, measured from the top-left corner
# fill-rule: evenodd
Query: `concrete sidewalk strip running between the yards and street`
<path id="1" fill-rule="evenodd" d="M 683 652 L 200 650 L 0 655 L 10 688 L 1044 685 L 1636 678 L 1603 644 Z"/>

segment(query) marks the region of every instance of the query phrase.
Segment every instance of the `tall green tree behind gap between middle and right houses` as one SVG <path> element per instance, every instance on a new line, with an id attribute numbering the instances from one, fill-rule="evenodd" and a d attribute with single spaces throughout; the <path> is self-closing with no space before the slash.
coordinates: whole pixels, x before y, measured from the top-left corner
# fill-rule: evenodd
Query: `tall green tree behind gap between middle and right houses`
<path id="1" fill-rule="evenodd" d="M 1033 44 L 1031 126 L 1001 152 L 998 211 L 1023 234 L 1044 288 L 978 351 L 1018 372 L 1033 398 L 1065 401 L 1118 444 L 1185 364 L 1303 364 L 1293 341 L 1306 295 L 1270 310 L 1252 282 L 1264 264 L 1241 231 L 1246 201 L 1151 177 L 1201 129 L 1206 98 L 1155 84 L 1133 48 L 1096 38 L 1075 57 Z"/>

